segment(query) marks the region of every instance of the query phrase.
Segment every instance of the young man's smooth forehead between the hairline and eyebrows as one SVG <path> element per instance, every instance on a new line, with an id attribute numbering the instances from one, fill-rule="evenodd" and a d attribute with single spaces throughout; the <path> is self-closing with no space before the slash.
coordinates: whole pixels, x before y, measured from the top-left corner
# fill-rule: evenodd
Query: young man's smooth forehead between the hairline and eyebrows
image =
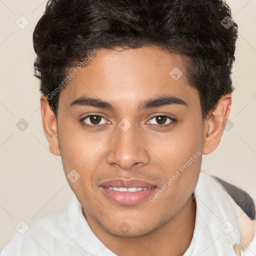
<path id="1" fill-rule="evenodd" d="M 156 46 L 116 50 L 101 48 L 87 66 L 76 68 L 77 74 L 60 93 L 66 103 L 82 95 L 129 104 L 160 95 L 173 95 L 198 101 L 185 74 L 187 59 Z M 73 68 L 70 69 L 71 71 Z M 188 101 L 189 101 L 188 100 Z M 198 103 L 198 102 L 195 102 Z"/>

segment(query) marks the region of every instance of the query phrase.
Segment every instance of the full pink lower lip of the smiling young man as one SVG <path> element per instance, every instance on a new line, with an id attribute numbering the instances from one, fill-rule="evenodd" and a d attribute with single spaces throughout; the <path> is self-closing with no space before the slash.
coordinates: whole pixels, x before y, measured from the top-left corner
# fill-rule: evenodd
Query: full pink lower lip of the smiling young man
<path id="1" fill-rule="evenodd" d="M 137 204 L 144 199 L 148 198 L 156 189 L 156 187 L 152 187 L 146 190 L 140 190 L 136 192 L 119 192 L 108 189 L 107 187 L 100 186 L 101 191 L 104 195 L 117 204 L 122 205 L 134 205 Z"/>

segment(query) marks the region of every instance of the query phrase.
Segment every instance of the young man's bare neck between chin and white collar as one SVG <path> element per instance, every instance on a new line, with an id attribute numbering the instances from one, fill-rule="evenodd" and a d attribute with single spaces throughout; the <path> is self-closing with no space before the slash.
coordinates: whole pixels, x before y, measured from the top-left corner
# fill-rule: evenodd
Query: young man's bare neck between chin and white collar
<path id="1" fill-rule="evenodd" d="M 185 253 L 191 242 L 195 212 L 196 202 L 192 195 L 179 212 L 160 228 L 143 236 L 128 238 L 113 236 L 87 215 L 86 219 L 98 239 L 118 256 L 179 256 Z"/>

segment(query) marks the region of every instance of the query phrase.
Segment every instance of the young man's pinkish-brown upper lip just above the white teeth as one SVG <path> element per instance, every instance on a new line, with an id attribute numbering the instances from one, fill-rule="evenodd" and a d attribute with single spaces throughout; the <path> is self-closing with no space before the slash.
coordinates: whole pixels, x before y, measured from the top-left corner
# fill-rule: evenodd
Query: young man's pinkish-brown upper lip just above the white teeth
<path id="1" fill-rule="evenodd" d="M 122 179 L 122 178 L 116 178 L 116 179 L 110 179 L 100 184 L 100 186 L 104 187 L 155 187 L 155 184 L 143 181 L 141 179 Z"/>

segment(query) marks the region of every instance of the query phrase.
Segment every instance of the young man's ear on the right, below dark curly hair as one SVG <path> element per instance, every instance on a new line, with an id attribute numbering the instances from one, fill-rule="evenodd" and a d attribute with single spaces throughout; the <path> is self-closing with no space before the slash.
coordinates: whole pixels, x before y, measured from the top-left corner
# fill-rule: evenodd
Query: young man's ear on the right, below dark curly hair
<path id="1" fill-rule="evenodd" d="M 218 146 L 226 125 L 231 103 L 232 97 L 230 94 L 222 96 L 215 109 L 204 121 L 203 154 L 211 153 Z"/>

